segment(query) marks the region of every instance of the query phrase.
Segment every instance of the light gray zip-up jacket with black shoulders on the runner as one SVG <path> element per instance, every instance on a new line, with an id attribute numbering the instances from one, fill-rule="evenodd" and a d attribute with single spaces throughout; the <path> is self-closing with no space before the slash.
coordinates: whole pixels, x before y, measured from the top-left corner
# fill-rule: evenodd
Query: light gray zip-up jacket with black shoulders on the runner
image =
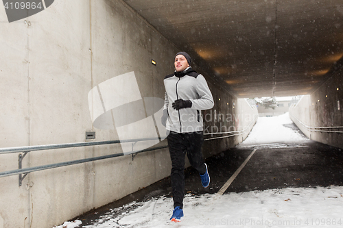
<path id="1" fill-rule="evenodd" d="M 203 130 L 201 110 L 209 110 L 214 101 L 204 76 L 193 71 L 191 67 L 183 71 L 183 75 L 174 73 L 167 75 L 165 84 L 165 105 L 163 110 L 168 111 L 166 129 L 178 133 Z M 174 110 L 172 103 L 176 100 L 190 100 L 190 108 Z"/>

